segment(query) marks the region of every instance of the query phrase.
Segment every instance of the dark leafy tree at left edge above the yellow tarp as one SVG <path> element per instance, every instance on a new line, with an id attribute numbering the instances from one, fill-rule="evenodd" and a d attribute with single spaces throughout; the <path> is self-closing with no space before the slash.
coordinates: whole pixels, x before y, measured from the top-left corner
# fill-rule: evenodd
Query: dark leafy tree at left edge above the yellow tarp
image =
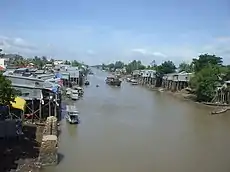
<path id="1" fill-rule="evenodd" d="M 18 92 L 12 88 L 11 81 L 0 74 L 0 105 L 10 106 Z"/>

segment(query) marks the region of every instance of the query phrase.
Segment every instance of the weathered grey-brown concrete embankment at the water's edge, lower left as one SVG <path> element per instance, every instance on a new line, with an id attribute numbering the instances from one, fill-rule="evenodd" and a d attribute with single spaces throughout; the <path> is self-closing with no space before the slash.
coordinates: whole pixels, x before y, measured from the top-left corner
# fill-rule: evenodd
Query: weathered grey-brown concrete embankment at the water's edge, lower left
<path id="1" fill-rule="evenodd" d="M 18 165 L 17 172 L 38 172 L 43 166 L 56 165 L 58 163 L 57 118 L 50 116 L 44 125 L 34 126 L 34 128 L 36 130 L 34 132 L 36 141 L 28 140 L 28 142 L 39 143 L 36 145 L 38 153 L 33 156 L 33 158 L 23 160 L 23 162 Z M 28 136 L 28 139 L 32 138 Z M 35 149 L 35 147 L 33 147 L 33 149 Z M 31 152 L 28 152 L 28 155 L 29 154 L 31 154 Z"/>

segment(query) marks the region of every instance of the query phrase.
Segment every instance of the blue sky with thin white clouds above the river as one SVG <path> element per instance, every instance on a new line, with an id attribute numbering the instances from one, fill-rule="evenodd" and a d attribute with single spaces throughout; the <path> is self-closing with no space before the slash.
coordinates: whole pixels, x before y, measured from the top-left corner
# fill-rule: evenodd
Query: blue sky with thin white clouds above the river
<path id="1" fill-rule="evenodd" d="M 230 63 L 229 0 L 0 0 L 0 48 L 86 64 Z"/>

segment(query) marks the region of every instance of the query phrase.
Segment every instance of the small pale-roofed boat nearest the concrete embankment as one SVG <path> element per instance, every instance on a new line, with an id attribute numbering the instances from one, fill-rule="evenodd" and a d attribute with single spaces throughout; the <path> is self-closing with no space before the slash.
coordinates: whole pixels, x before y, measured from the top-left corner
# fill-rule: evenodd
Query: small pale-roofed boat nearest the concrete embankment
<path id="1" fill-rule="evenodd" d="M 77 110 L 75 106 L 70 106 L 70 105 L 66 106 L 66 116 L 65 117 L 66 117 L 66 120 L 70 124 L 79 124 L 80 122 L 79 111 Z"/>

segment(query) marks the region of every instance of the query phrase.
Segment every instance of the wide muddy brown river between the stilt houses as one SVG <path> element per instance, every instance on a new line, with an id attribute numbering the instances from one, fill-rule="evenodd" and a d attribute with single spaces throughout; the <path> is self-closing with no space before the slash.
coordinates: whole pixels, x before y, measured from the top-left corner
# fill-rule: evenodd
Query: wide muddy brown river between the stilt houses
<path id="1" fill-rule="evenodd" d="M 81 123 L 61 122 L 60 163 L 45 172 L 230 171 L 230 115 L 105 78 L 89 76 L 76 102 Z"/>

